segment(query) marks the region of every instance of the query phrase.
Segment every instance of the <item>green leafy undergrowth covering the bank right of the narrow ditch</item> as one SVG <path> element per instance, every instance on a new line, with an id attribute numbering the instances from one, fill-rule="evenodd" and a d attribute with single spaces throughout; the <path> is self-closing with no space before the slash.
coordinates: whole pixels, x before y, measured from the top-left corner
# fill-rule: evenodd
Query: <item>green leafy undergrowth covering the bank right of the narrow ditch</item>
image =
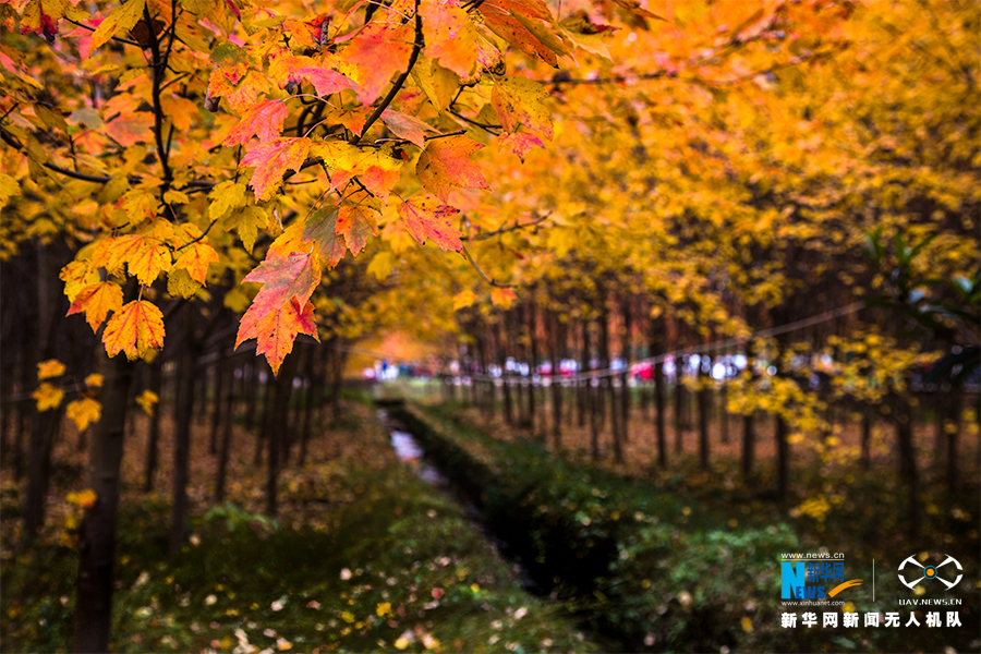
<path id="1" fill-rule="evenodd" d="M 776 502 L 722 484 L 693 485 L 678 474 L 628 479 L 555 458 L 537 441 L 496 440 L 457 421 L 452 407 L 407 409 L 397 416 L 546 590 L 554 586 L 555 596 L 578 607 L 592 630 L 618 638 L 621 649 L 907 652 L 973 651 L 979 644 L 976 571 L 966 570 L 967 581 L 950 593 L 962 600 L 960 629 L 846 629 L 840 617 L 837 629 L 782 628 L 783 611 L 800 620 L 814 610 L 820 620 L 824 611 L 844 608 L 899 610 L 905 625 L 909 607 L 899 600 L 916 595 L 880 561 L 874 602 L 867 583 L 843 592 L 836 600 L 849 603 L 844 606 L 782 607 L 782 554 L 819 548 L 780 518 Z M 868 582 L 871 559 L 853 558 L 847 543 L 840 546 L 832 552 L 846 553 L 847 579 Z M 945 614 L 950 607 L 940 608 Z"/>

